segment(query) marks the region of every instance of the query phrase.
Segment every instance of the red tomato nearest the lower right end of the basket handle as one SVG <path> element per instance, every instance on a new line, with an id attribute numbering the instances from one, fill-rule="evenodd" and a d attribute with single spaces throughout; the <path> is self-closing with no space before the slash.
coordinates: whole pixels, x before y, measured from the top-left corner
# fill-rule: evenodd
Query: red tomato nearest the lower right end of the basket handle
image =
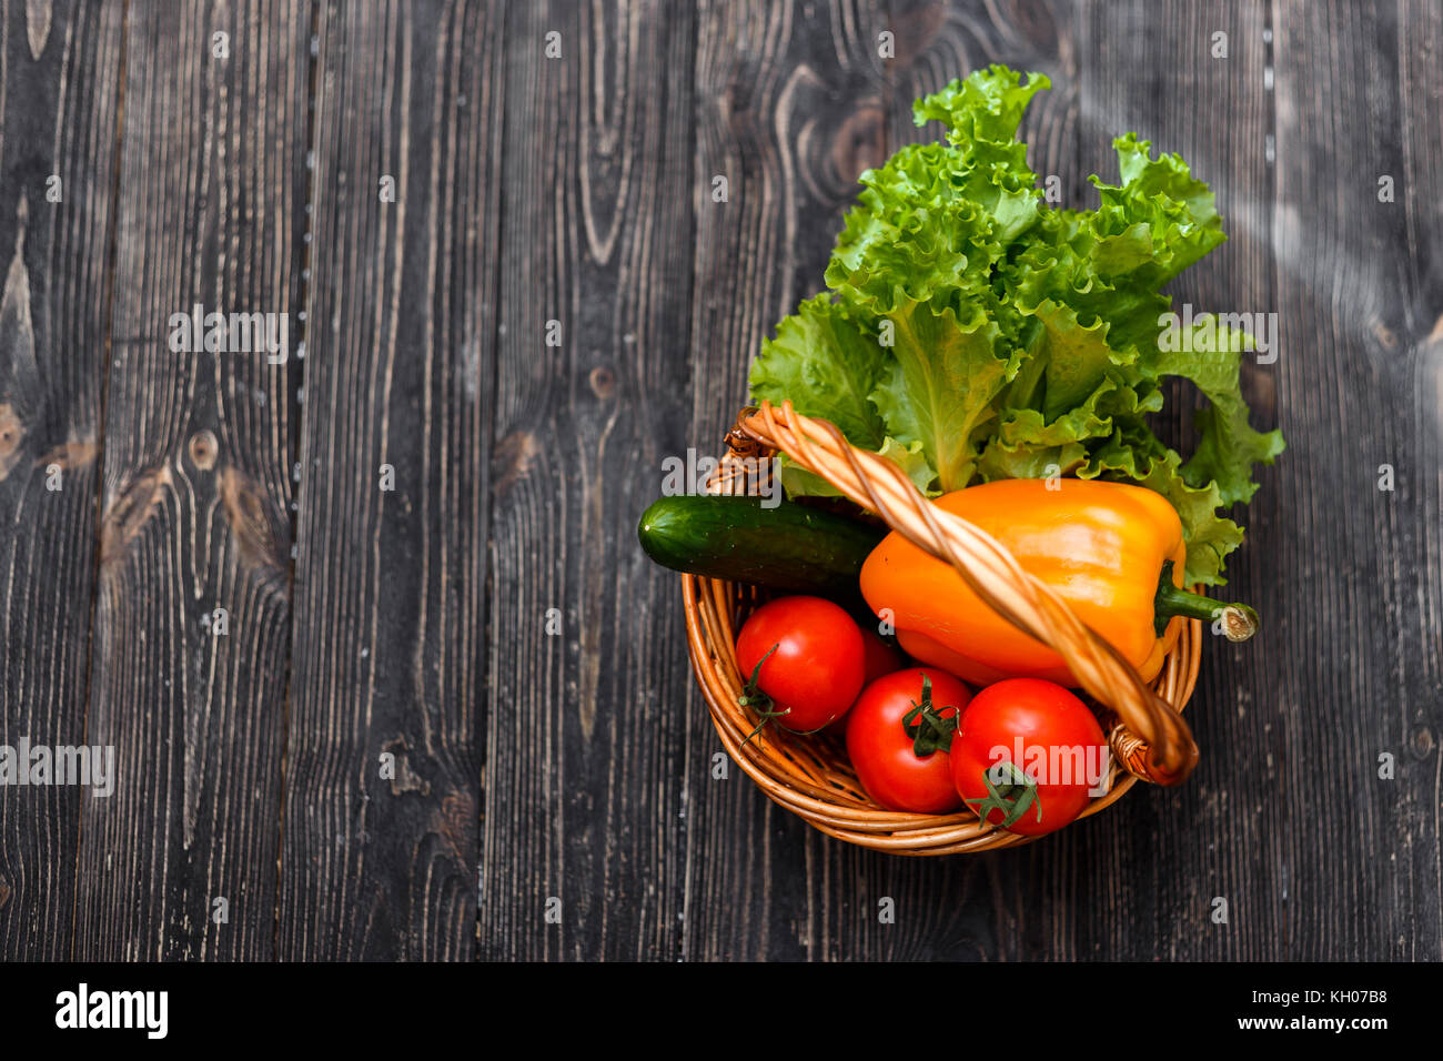
<path id="1" fill-rule="evenodd" d="M 1076 818 L 1107 764 L 1107 741 L 1092 712 L 1040 678 L 987 686 L 962 712 L 952 741 L 957 791 L 993 824 L 1016 816 L 1004 827 L 1023 836 Z"/>

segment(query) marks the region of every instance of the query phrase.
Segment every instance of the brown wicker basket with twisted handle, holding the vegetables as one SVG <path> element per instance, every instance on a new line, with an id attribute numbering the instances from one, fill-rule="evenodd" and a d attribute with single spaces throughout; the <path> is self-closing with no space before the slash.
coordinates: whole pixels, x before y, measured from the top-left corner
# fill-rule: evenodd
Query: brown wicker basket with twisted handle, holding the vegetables
<path id="1" fill-rule="evenodd" d="M 900 468 L 850 446 L 825 420 L 799 416 L 791 403 L 745 409 L 726 443 L 727 453 L 709 486 L 713 492 L 742 492 L 740 469 L 755 466 L 756 458 L 786 453 L 921 549 L 949 562 L 983 601 L 1068 661 L 1092 699 L 1113 751 L 1108 790 L 1088 804 L 1082 817 L 1115 803 L 1139 778 L 1173 785 L 1196 765 L 1198 748 L 1180 712 L 1198 680 L 1198 619 L 1185 622 L 1149 687 L 1056 593 L 1022 570 L 996 538 L 929 504 Z M 685 575 L 683 596 L 691 667 L 722 743 L 772 800 L 828 836 L 896 855 L 957 855 L 1036 839 L 984 826 L 968 811 L 909 814 L 879 807 L 861 790 L 835 738 L 766 726 L 747 741 L 758 717 L 737 706 L 745 678 L 736 663 L 736 634 L 765 593 Z"/>

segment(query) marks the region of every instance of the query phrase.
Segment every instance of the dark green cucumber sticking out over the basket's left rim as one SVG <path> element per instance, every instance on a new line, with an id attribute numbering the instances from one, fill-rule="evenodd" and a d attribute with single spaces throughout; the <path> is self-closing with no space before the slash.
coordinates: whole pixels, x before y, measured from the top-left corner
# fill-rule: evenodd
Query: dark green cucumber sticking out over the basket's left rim
<path id="1" fill-rule="evenodd" d="M 857 602 L 861 564 L 886 530 L 789 501 L 678 495 L 642 512 L 636 534 L 662 567 Z"/>

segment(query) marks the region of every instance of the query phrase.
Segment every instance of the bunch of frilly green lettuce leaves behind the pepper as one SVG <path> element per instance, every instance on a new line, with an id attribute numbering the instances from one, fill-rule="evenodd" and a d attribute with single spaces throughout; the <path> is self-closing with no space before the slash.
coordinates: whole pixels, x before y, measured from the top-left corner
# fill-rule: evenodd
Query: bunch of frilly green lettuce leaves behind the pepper
<path id="1" fill-rule="evenodd" d="M 1248 336 L 1206 315 L 1180 335 L 1163 326 L 1162 287 L 1225 238 L 1212 192 L 1128 134 L 1114 141 L 1120 183 L 1092 178 L 1098 208 L 1049 206 L 1016 140 L 1046 87 L 993 66 L 915 104 L 945 141 L 861 175 L 828 290 L 776 326 L 752 397 L 833 422 L 932 494 L 1056 475 L 1146 486 L 1180 517 L 1183 585 L 1222 583 L 1242 541 L 1224 512 L 1283 439 L 1248 423 Z M 1149 426 L 1166 377 L 1208 401 L 1186 460 Z M 782 482 L 792 497 L 837 492 L 795 465 Z"/>

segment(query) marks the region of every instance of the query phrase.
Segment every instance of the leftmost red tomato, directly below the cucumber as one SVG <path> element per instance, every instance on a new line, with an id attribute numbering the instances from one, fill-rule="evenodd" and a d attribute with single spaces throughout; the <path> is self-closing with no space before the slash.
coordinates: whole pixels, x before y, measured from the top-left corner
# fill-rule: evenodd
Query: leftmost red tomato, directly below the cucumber
<path id="1" fill-rule="evenodd" d="M 762 664 L 756 687 L 772 699 L 776 723 L 799 733 L 847 713 L 861 691 L 864 658 L 857 624 L 820 596 L 784 596 L 762 605 L 736 639 L 742 674 L 750 678 Z"/>

